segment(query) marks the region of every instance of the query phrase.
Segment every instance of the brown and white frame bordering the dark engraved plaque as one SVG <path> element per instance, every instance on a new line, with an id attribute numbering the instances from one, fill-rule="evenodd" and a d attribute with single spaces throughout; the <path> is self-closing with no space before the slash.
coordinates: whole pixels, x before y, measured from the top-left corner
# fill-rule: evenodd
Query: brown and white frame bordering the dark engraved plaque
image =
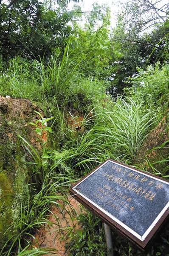
<path id="1" fill-rule="evenodd" d="M 102 166 L 104 166 L 107 162 L 115 163 L 119 166 L 125 167 L 127 169 L 131 169 L 134 172 L 141 173 L 142 175 L 151 177 L 155 180 L 161 181 L 167 185 L 169 185 L 169 182 L 164 180 L 163 178 L 159 178 L 155 175 L 149 174 L 147 172 L 143 172 L 141 170 L 138 170 L 134 167 L 127 166 L 123 163 L 117 162 L 115 160 L 107 159 L 96 167 L 92 172 L 90 172 L 88 175 L 83 177 L 78 183 L 74 184 L 69 189 L 70 195 L 73 196 L 77 201 L 79 201 L 81 204 L 83 204 L 87 209 L 89 209 L 91 212 L 93 212 L 95 215 L 97 215 L 101 220 L 109 225 L 113 230 L 120 233 L 125 238 L 129 239 L 133 244 L 137 245 L 141 250 L 144 250 L 145 247 L 150 243 L 150 240 L 155 236 L 155 234 L 160 230 L 160 227 L 164 223 L 164 221 L 167 221 L 167 217 L 169 216 L 169 202 L 166 204 L 166 206 L 162 209 L 162 211 L 158 214 L 158 216 L 155 218 L 153 223 L 149 226 L 149 228 L 146 230 L 143 236 L 140 236 L 138 233 L 136 233 L 134 230 L 132 230 L 130 227 L 119 221 L 117 218 L 115 218 L 112 214 L 107 212 L 105 209 L 97 205 L 95 202 L 91 201 L 89 198 L 87 198 L 85 195 L 83 195 L 81 192 L 76 189 L 76 187 L 82 183 L 84 180 L 87 179 L 90 175 L 92 175 L 94 172 L 97 172 L 98 169 L 100 169 Z"/>

